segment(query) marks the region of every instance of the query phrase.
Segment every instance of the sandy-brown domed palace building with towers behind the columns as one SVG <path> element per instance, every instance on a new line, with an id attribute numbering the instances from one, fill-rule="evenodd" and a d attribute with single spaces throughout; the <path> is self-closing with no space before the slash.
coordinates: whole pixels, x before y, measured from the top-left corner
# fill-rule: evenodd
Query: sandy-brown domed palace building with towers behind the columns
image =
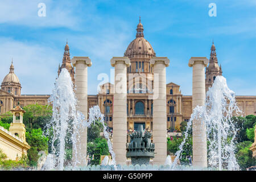
<path id="1" fill-rule="evenodd" d="M 151 44 L 144 39 L 144 28 L 139 20 L 136 38 L 127 47 L 124 56 L 129 57 L 131 65 L 127 67 L 127 130 L 136 130 L 139 123 L 144 129 L 152 131 L 152 111 L 154 100 L 149 99 L 152 95 L 154 82 L 154 68 L 150 67 L 150 59 L 156 56 Z M 97 65 L 94 65 L 97 66 Z M 68 43 L 64 48 L 64 56 L 61 69 L 66 68 L 75 82 L 75 69 L 72 67 L 69 55 Z M 218 65 L 216 47 L 212 44 L 210 48 L 209 65 L 205 71 L 206 92 L 212 86 L 214 79 L 222 75 L 221 65 Z M 192 79 L 191 79 L 192 80 Z M 12 110 L 15 106 L 26 106 L 30 104 L 47 105 L 49 95 L 22 95 L 22 85 L 14 73 L 14 65 L 11 63 L 10 72 L 3 79 L 0 90 L 0 114 Z M 110 128 L 113 127 L 113 84 L 105 83 L 100 86 L 96 95 L 88 95 L 88 112 L 93 105 L 100 106 L 105 114 L 105 121 Z M 166 85 L 167 121 L 166 125 L 170 131 L 178 130 L 182 121 L 188 121 L 192 114 L 192 96 L 184 96 L 180 86 L 174 82 Z M 236 96 L 243 115 L 256 115 L 256 96 Z"/>

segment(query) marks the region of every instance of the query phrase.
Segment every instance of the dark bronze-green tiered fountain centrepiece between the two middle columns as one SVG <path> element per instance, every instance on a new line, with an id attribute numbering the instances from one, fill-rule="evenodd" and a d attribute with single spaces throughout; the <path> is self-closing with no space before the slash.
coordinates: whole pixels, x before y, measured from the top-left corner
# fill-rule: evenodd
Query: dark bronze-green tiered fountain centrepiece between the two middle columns
<path id="1" fill-rule="evenodd" d="M 130 134 L 131 142 L 126 143 L 126 158 L 131 158 L 131 163 L 149 164 L 150 159 L 154 158 L 155 144 L 151 143 L 151 133 L 143 131 L 143 125 L 138 126 L 138 132 Z"/>

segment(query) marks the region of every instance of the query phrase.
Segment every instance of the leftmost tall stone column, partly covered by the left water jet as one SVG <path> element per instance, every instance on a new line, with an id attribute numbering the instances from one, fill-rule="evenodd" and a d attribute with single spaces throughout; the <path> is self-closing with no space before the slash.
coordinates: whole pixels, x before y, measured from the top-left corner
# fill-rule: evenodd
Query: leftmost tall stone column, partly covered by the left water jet
<path id="1" fill-rule="evenodd" d="M 77 109 L 84 114 L 85 119 L 87 119 L 87 67 L 92 65 L 89 57 L 73 57 L 72 64 L 76 67 L 76 97 L 77 97 Z M 77 136 L 76 148 L 77 155 L 73 152 L 73 164 L 76 163 L 77 166 L 86 166 L 86 156 L 87 156 L 87 128 L 79 127 L 80 137 Z M 74 147 L 74 146 L 73 146 Z M 74 150 L 73 150 L 74 151 Z M 76 161 L 76 162 L 74 162 Z"/>

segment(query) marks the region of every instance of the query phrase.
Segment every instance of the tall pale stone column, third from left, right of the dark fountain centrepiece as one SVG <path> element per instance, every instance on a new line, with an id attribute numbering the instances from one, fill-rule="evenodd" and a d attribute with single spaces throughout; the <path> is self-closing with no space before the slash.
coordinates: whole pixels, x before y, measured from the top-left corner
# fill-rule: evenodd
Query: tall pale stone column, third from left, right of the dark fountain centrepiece
<path id="1" fill-rule="evenodd" d="M 155 143 L 154 164 L 164 164 L 167 157 L 167 116 L 166 116 L 166 67 L 170 64 L 167 57 L 154 57 L 150 59 L 151 67 L 154 67 L 154 94 L 153 98 L 153 143 Z"/>

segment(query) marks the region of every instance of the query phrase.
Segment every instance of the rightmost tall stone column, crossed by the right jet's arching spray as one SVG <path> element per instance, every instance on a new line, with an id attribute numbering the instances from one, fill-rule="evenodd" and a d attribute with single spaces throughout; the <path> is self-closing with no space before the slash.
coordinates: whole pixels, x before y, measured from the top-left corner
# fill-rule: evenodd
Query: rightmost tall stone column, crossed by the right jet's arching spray
<path id="1" fill-rule="evenodd" d="M 191 57 L 188 66 L 193 67 L 192 109 L 205 104 L 205 67 L 207 57 Z M 193 121 L 193 166 L 207 167 L 207 131 L 200 119 Z"/>

